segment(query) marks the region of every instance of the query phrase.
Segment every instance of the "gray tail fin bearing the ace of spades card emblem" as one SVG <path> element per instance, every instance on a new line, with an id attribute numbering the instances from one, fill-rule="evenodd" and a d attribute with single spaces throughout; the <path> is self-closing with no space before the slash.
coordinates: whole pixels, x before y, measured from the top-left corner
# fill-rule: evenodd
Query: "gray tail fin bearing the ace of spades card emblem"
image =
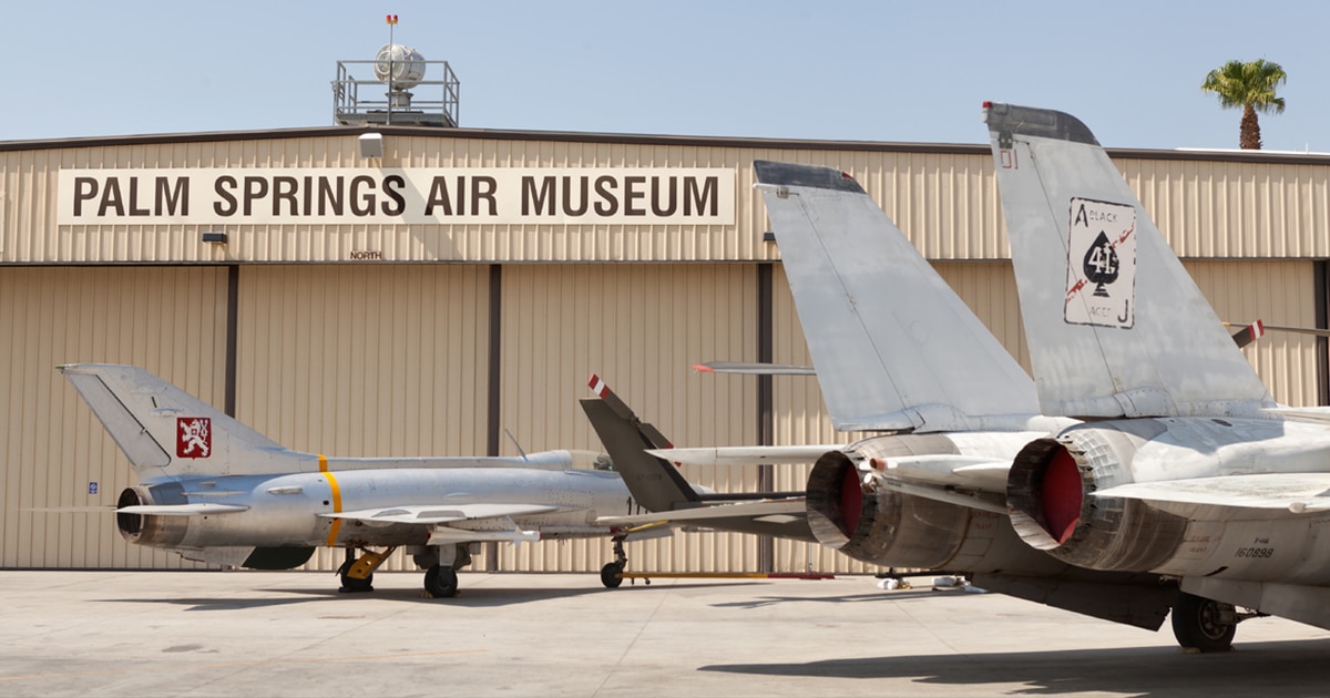
<path id="1" fill-rule="evenodd" d="M 1091 130 L 986 104 L 1045 415 L 1256 415 L 1269 392 Z"/>

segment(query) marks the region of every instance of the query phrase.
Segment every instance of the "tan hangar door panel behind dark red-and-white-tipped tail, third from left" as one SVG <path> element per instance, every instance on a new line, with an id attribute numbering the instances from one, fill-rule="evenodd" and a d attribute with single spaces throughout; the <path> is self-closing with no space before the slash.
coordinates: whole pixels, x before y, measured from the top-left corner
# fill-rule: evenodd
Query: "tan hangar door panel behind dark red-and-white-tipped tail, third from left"
<path id="1" fill-rule="evenodd" d="M 755 352 L 753 266 L 521 265 L 503 270 L 501 427 L 523 448 L 601 445 L 577 399 L 601 375 L 676 444 L 753 443 L 755 395 L 694 363 Z M 513 453 L 509 443 L 505 453 Z M 754 491 L 755 468 L 684 468 L 693 483 Z M 755 541 L 681 534 L 628 544 L 634 570 L 755 569 Z M 688 542 L 681 542 L 686 540 Z M 501 569 L 598 570 L 605 538 L 499 548 Z"/>

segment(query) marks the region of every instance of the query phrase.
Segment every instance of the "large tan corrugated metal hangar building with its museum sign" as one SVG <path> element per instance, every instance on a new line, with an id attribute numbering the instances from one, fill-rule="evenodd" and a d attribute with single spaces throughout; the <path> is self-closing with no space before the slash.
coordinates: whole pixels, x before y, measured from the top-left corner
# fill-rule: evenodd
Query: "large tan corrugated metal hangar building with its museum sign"
<path id="1" fill-rule="evenodd" d="M 1222 318 L 1326 327 L 1330 157 L 1109 154 Z M 1028 367 L 987 145 L 400 122 L 0 142 L 0 566 L 201 566 L 126 544 L 109 512 L 59 511 L 133 483 L 63 363 L 142 366 L 335 456 L 600 449 L 576 402 L 592 372 L 680 445 L 853 439 L 815 379 L 692 368 L 809 363 L 753 160 L 851 173 Z M 1326 403 L 1323 340 L 1245 351 L 1277 400 Z M 720 491 L 801 489 L 806 472 L 685 468 Z M 609 548 L 499 545 L 475 569 L 595 572 Z M 871 570 L 738 534 L 628 556 Z"/>

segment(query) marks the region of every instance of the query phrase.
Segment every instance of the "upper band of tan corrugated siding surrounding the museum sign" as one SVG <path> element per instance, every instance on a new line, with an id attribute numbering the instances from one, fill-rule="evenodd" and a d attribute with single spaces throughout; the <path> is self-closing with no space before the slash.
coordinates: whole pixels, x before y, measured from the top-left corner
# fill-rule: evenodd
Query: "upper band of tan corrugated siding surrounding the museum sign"
<path id="1" fill-rule="evenodd" d="M 390 136 L 382 161 L 355 133 L 274 140 L 100 145 L 0 152 L 0 263 L 346 262 L 358 250 L 398 262 L 767 261 L 774 245 L 755 158 L 854 174 L 931 259 L 1008 257 L 986 153 L 842 150 Z M 1117 166 L 1182 257 L 1330 257 L 1330 164 L 1120 156 Z M 110 225 L 56 226 L 61 169 L 117 168 L 733 168 L 728 225 Z M 230 243 L 207 245 L 202 230 Z"/>

